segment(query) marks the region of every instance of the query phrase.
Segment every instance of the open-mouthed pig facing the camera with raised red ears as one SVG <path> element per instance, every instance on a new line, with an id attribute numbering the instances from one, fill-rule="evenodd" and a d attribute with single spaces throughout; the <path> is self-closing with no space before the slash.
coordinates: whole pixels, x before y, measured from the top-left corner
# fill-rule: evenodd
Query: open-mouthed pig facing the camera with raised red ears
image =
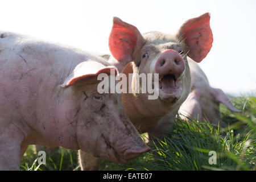
<path id="1" fill-rule="evenodd" d="M 156 100 L 148 100 L 147 93 L 122 93 L 123 107 L 139 133 L 147 132 L 162 138 L 172 130 L 177 111 L 191 88 L 187 56 L 200 63 L 212 47 L 209 22 L 210 14 L 205 13 L 184 22 L 175 35 L 156 31 L 142 35 L 137 27 L 119 18 L 113 19 L 109 63 L 126 75 L 159 74 L 159 97 Z M 131 82 L 135 84 L 130 85 L 138 85 L 138 82 Z M 98 164 L 97 158 L 90 157 L 79 152 L 81 169 L 98 169 L 97 166 L 82 166 L 86 161 Z"/>

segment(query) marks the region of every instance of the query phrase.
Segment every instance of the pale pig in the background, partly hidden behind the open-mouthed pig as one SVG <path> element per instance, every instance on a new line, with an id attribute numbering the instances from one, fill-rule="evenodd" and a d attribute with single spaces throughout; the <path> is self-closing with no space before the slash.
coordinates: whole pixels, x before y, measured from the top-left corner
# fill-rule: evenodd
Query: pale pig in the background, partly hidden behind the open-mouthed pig
<path id="1" fill-rule="evenodd" d="M 207 76 L 195 61 L 188 59 L 191 72 L 191 92 L 180 106 L 179 114 L 183 119 L 205 119 L 216 126 L 224 127 L 220 118 L 220 103 L 233 112 L 238 110 L 229 97 L 221 90 L 209 85 Z M 188 117 L 188 118 L 187 118 Z"/>

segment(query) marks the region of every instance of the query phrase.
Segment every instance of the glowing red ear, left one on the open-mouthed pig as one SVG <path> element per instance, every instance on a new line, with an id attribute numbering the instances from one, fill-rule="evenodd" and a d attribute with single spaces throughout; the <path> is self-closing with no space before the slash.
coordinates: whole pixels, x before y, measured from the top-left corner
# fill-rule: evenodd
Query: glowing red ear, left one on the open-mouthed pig
<path id="1" fill-rule="evenodd" d="M 126 65 L 131 61 L 135 49 L 141 48 L 143 43 L 144 39 L 135 26 L 114 17 L 109 49 L 116 60 Z"/>

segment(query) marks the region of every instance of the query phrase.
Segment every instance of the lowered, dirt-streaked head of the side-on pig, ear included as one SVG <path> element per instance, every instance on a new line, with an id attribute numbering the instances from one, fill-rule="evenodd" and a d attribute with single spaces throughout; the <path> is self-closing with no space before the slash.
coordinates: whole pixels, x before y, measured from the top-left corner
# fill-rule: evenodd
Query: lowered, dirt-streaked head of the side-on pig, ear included
<path id="1" fill-rule="evenodd" d="M 143 143 L 122 105 L 119 104 L 118 94 L 97 92 L 97 76 L 100 73 L 105 73 L 107 76 L 113 68 L 94 61 L 82 62 L 61 86 L 68 88 L 74 85 L 75 88 L 72 90 L 80 90 L 80 96 L 79 93 L 73 93 L 79 97 L 76 103 L 80 104 L 75 114 L 79 148 L 93 156 L 126 163 L 127 160 L 148 151 L 149 148 Z M 60 109 L 60 115 L 63 116 L 67 107 L 71 107 L 71 101 L 65 97 L 60 101 L 63 101 L 64 109 L 63 107 Z"/>

